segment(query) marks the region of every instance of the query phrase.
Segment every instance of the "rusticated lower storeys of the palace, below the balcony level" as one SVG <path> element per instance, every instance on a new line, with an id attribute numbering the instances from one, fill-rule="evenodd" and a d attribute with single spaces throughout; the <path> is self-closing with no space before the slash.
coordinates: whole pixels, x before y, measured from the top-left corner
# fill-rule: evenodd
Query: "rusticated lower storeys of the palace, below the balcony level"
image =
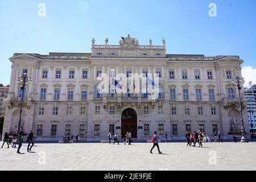
<path id="1" fill-rule="evenodd" d="M 18 118 L 17 102 L 6 108 L 3 133 L 16 131 Z M 22 129 L 25 134 L 32 129 L 35 140 L 44 141 L 71 134 L 79 134 L 82 141 L 97 141 L 107 139 L 109 132 L 121 138 L 127 131 L 141 141 L 150 139 L 154 131 L 167 133 L 168 139 L 184 140 L 186 131 L 198 130 L 210 138 L 220 131 L 224 139 L 231 139 L 241 136 L 240 119 L 238 106 L 218 102 L 25 102 Z"/>

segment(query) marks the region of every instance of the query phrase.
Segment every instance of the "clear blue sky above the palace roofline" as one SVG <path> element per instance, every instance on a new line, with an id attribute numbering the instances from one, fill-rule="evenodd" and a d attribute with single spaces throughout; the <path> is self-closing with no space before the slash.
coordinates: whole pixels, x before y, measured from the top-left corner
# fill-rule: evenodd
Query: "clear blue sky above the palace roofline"
<path id="1" fill-rule="evenodd" d="M 208 15 L 212 2 L 216 17 Z M 0 82 L 9 84 L 15 52 L 90 52 L 93 37 L 118 44 L 127 34 L 142 45 L 164 37 L 167 53 L 238 55 L 255 71 L 255 9 L 255 0 L 0 0 Z"/>

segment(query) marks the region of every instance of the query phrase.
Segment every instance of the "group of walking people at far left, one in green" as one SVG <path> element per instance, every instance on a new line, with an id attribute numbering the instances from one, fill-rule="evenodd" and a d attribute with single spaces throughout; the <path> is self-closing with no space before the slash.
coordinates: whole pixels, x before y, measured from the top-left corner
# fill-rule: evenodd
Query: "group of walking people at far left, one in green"
<path id="1" fill-rule="evenodd" d="M 31 152 L 31 148 L 34 146 L 34 134 L 33 134 L 33 131 L 30 130 L 30 134 L 28 134 L 28 137 L 27 137 L 27 142 L 28 142 L 28 145 L 27 145 L 27 152 Z M 9 148 L 9 144 L 13 143 L 13 148 L 16 148 L 16 144 L 18 143 L 18 150 L 17 150 L 17 153 L 20 154 L 20 148 L 22 147 L 22 143 L 23 143 L 23 131 L 19 131 L 18 134 L 14 133 L 13 134 L 13 137 L 9 137 L 9 134 L 8 133 L 5 133 L 5 136 L 3 138 L 3 144 L 2 144 L 2 147 L 3 148 L 3 145 L 7 143 L 7 148 Z M 32 144 L 30 146 L 30 144 Z"/>

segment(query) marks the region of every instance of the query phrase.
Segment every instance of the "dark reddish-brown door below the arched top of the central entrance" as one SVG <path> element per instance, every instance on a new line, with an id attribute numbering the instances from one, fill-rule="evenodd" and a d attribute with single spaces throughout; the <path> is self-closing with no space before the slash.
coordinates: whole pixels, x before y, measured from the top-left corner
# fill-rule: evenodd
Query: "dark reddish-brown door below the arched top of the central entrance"
<path id="1" fill-rule="evenodd" d="M 122 119 L 121 123 L 121 133 L 122 137 L 125 137 L 125 134 L 129 131 L 131 133 L 131 138 L 137 138 L 137 119 L 129 118 Z"/>

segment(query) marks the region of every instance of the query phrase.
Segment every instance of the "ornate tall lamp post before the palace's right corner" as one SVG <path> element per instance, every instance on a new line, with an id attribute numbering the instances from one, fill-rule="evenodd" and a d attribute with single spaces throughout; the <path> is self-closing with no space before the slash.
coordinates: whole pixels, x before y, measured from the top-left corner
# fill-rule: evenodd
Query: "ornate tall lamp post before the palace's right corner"
<path id="1" fill-rule="evenodd" d="M 240 95 L 240 90 L 242 89 L 241 84 L 244 84 L 244 83 L 245 83 L 245 80 L 243 79 L 242 76 L 239 76 L 237 72 L 236 77 L 234 77 L 232 80 L 232 84 L 237 86 L 238 93 L 239 93 L 239 105 L 240 105 L 240 113 L 241 113 L 241 133 L 242 133 L 241 142 L 247 142 L 245 137 L 245 127 L 243 123 L 242 102 L 241 102 L 241 95 Z"/>

